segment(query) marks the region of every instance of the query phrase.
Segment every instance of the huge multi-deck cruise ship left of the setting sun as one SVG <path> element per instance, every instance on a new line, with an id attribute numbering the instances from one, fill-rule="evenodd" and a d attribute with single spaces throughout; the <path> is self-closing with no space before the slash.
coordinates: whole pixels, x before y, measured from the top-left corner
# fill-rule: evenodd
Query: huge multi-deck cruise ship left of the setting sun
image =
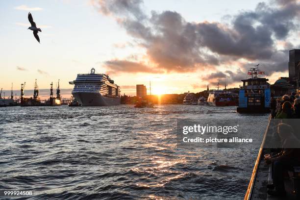
<path id="1" fill-rule="evenodd" d="M 74 85 L 73 97 L 82 106 L 120 105 L 120 86 L 105 74 L 95 74 L 92 68 L 89 74 L 78 74 Z"/>

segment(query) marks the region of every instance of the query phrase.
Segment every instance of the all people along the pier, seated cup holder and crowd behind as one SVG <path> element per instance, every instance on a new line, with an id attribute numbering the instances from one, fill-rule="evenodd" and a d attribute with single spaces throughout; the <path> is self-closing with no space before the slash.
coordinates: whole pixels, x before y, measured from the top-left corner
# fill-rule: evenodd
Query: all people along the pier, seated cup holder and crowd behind
<path id="1" fill-rule="evenodd" d="M 285 172 L 287 170 L 293 171 L 295 166 L 300 166 L 300 138 L 297 134 L 299 127 L 295 127 L 295 121 L 280 119 L 300 119 L 299 96 L 292 93 L 276 100 L 272 97 L 271 117 L 279 119 L 275 124 L 277 125 L 276 132 L 281 148 L 273 149 L 272 156 L 265 156 L 265 162 L 272 165 L 273 179 L 273 183 L 267 185 L 267 192 L 271 196 L 283 197 L 286 196 L 284 187 Z"/>

